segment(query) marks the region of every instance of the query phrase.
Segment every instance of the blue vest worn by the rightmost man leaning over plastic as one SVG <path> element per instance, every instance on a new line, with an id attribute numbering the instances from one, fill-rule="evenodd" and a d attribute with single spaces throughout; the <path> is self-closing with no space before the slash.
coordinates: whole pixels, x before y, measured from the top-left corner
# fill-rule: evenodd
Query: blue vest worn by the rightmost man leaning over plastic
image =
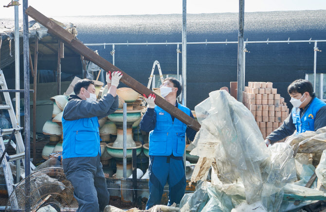
<path id="1" fill-rule="evenodd" d="M 297 129 L 297 134 L 306 132 L 307 130 L 315 131 L 316 114 L 322 106 L 326 106 L 326 103 L 318 98 L 314 98 L 302 118 L 300 118 L 300 110 L 296 112 L 295 108 L 292 108 L 291 115 L 293 124 L 295 124 L 295 128 Z"/>

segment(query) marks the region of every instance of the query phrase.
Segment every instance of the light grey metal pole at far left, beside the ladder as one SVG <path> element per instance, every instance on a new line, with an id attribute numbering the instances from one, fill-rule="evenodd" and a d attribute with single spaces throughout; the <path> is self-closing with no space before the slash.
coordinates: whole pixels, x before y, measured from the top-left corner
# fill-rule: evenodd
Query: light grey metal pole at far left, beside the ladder
<path id="1" fill-rule="evenodd" d="M 15 88 L 20 89 L 19 85 L 19 16 L 18 5 L 15 5 Z M 16 119 L 17 125 L 20 126 L 20 93 L 16 93 Z M 22 150 L 21 150 L 22 151 Z M 18 154 L 19 148 L 16 145 L 16 153 Z M 20 182 L 20 159 L 16 160 L 16 182 Z"/>

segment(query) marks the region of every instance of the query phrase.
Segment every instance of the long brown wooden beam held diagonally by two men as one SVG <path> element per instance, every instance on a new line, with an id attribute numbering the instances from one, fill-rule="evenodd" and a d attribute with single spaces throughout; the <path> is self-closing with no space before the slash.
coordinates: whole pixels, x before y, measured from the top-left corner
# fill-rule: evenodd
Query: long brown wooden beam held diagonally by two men
<path id="1" fill-rule="evenodd" d="M 83 43 L 81 43 L 79 40 L 76 38 L 73 39 L 67 39 L 70 34 L 69 32 L 65 30 L 57 30 L 59 25 L 51 21 L 49 18 L 38 12 L 35 8 L 32 6 L 29 6 L 26 9 L 26 14 L 30 16 L 31 18 L 35 19 L 38 23 L 42 24 L 44 27 L 46 27 L 49 31 L 50 34 L 56 36 L 57 38 L 61 39 L 67 46 L 69 46 L 73 51 L 80 53 L 83 55 L 87 60 L 90 60 L 91 62 L 95 63 L 98 65 L 100 68 L 102 68 L 105 71 L 121 71 L 114 65 L 112 65 L 109 61 L 101 57 L 100 55 L 94 53 L 91 49 L 89 49 L 87 46 L 85 46 Z M 60 27 L 63 29 L 62 27 Z M 57 31 L 55 31 L 57 30 Z M 146 88 L 144 85 L 139 83 L 137 80 L 129 76 L 127 73 L 124 71 L 121 71 L 123 73 L 123 77 L 121 78 L 121 82 L 125 83 L 127 86 L 130 88 L 134 89 L 140 94 L 145 94 L 148 96 L 149 94 L 154 94 L 153 91 L 150 89 Z M 163 108 L 165 111 L 169 112 L 171 115 L 179 119 L 181 122 L 184 124 L 187 124 L 189 127 L 192 129 L 199 131 L 200 124 L 182 112 L 180 109 L 177 107 L 171 105 L 167 101 L 165 101 L 162 97 L 156 96 L 155 104 L 157 106 L 160 106 Z"/>

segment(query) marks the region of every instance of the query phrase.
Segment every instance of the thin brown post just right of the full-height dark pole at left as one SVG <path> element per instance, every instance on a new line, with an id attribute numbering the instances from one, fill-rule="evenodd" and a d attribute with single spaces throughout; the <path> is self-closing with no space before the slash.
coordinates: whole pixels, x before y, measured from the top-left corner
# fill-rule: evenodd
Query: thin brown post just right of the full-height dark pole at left
<path id="1" fill-rule="evenodd" d="M 38 39 L 35 37 L 34 78 L 33 78 L 33 162 L 36 161 L 36 80 L 37 80 Z M 31 66 L 32 67 L 32 66 Z"/>

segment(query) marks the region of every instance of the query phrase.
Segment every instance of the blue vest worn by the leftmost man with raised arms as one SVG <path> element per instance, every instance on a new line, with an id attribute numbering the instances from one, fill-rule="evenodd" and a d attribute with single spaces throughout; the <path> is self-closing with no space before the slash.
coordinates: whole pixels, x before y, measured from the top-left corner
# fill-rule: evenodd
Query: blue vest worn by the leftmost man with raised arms
<path id="1" fill-rule="evenodd" d="M 101 155 L 99 124 L 97 117 L 66 121 L 62 117 L 62 157 L 96 157 Z"/>

